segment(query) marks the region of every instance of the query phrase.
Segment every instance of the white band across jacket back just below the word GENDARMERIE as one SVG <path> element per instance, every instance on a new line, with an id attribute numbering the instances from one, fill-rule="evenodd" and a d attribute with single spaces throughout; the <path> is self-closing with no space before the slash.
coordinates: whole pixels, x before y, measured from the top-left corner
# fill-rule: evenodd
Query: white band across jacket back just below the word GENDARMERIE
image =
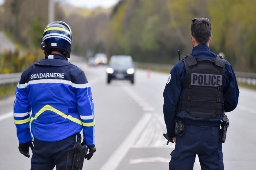
<path id="1" fill-rule="evenodd" d="M 85 84 L 75 84 L 72 83 L 69 80 L 62 80 L 62 79 L 41 79 L 41 80 L 30 80 L 29 82 L 25 83 L 25 84 L 18 84 L 17 87 L 18 88 L 25 88 L 26 86 L 30 85 L 30 84 L 40 84 L 40 83 L 61 83 L 61 84 L 68 84 L 72 87 L 75 88 L 86 88 L 86 87 L 90 87 L 89 83 L 85 83 Z"/>

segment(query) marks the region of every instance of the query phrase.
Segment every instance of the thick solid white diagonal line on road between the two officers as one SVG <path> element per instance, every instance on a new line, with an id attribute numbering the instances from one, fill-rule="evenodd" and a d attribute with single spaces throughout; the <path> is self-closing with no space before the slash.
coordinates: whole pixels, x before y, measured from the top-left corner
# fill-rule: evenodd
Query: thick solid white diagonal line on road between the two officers
<path id="1" fill-rule="evenodd" d="M 137 123 L 137 125 L 133 128 L 130 134 L 126 137 L 126 139 L 119 145 L 117 150 L 110 156 L 107 162 L 101 167 L 100 170 L 115 170 L 119 163 L 122 161 L 124 156 L 127 154 L 129 149 L 133 146 L 134 142 L 138 138 L 141 131 L 145 128 L 147 123 L 149 122 L 152 114 L 145 113 L 141 120 Z"/>

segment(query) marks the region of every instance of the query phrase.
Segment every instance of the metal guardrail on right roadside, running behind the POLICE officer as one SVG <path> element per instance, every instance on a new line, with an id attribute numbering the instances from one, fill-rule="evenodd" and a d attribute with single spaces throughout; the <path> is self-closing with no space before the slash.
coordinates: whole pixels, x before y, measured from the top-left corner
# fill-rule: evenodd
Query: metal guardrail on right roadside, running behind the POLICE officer
<path id="1" fill-rule="evenodd" d="M 173 65 L 169 65 L 169 64 L 140 63 L 140 62 L 135 62 L 135 66 L 142 69 L 166 70 L 166 71 L 170 71 L 171 68 L 173 67 Z M 235 71 L 235 75 L 239 83 L 245 83 L 252 86 L 256 86 L 256 73 Z"/>

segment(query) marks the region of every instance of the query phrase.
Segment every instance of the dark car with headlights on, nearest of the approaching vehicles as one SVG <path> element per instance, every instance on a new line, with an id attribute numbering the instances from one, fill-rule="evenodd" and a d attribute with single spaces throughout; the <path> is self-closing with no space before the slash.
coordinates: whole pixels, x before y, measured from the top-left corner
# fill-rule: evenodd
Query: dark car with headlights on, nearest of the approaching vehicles
<path id="1" fill-rule="evenodd" d="M 134 64 L 131 56 L 112 56 L 107 68 L 107 83 L 113 79 L 130 80 L 134 83 Z"/>

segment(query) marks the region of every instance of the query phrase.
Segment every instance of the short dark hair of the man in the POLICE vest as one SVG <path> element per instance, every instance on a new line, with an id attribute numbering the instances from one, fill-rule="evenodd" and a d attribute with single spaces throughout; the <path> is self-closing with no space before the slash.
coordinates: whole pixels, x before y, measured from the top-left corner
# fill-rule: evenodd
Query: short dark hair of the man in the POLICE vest
<path id="1" fill-rule="evenodd" d="M 211 22 L 207 19 L 196 19 L 191 23 L 191 35 L 199 44 L 207 44 L 211 37 Z"/>

